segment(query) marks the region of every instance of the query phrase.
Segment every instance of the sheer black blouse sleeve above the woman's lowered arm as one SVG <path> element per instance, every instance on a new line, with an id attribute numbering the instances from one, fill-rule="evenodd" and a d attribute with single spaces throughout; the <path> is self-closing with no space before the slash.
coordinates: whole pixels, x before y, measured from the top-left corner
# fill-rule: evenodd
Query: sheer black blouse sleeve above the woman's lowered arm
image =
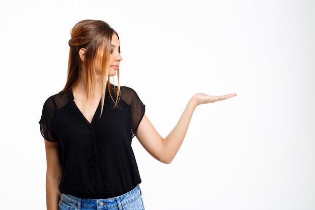
<path id="1" fill-rule="evenodd" d="M 42 110 L 42 116 L 39 120 L 40 132 L 42 136 L 49 142 L 58 142 L 58 139 L 55 138 L 50 130 L 50 123 L 54 117 L 54 101 L 53 97 L 49 97 L 44 105 Z"/>

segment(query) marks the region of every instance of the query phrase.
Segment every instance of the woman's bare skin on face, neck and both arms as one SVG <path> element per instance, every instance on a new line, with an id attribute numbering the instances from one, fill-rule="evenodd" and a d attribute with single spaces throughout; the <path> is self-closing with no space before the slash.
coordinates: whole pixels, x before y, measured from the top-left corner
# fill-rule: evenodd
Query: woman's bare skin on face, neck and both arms
<path id="1" fill-rule="evenodd" d="M 114 45 L 114 46 L 113 46 Z M 80 49 L 80 57 L 82 62 L 85 61 L 86 49 Z M 116 34 L 113 34 L 112 38 L 112 47 L 110 54 L 110 65 L 119 65 L 122 57 L 120 55 L 120 43 Z M 88 99 L 84 97 L 85 94 L 85 81 L 82 80 L 80 83 L 72 89 L 74 102 L 77 107 L 81 110 L 84 116 L 91 122 L 95 110 L 99 104 L 99 101 L 102 96 L 102 80 L 101 80 L 101 60 L 99 59 L 100 54 L 98 54 L 95 61 L 96 67 L 96 89 L 91 97 Z M 81 74 L 84 74 L 85 68 L 82 65 Z M 114 67 L 110 67 L 109 76 L 115 76 L 116 70 Z M 84 76 L 84 75 L 82 75 Z M 85 78 L 85 77 L 82 77 Z M 152 123 L 149 121 L 146 114 L 144 114 L 135 135 L 143 146 L 143 148 L 156 160 L 161 161 L 165 164 L 170 164 L 177 152 L 179 151 L 191 117 L 195 108 L 201 104 L 214 103 L 217 101 L 222 101 L 231 97 L 237 96 L 237 94 L 227 94 L 222 96 L 209 96 L 204 93 L 197 93 L 191 97 L 188 101 L 183 114 L 181 115 L 178 123 L 172 129 L 172 131 L 163 138 L 159 132 L 156 131 Z M 84 104 L 84 105 L 83 105 Z M 60 183 L 62 177 L 62 169 L 59 163 L 58 157 L 58 144 L 51 143 L 48 141 L 45 142 L 46 149 L 46 160 L 47 160 L 47 171 L 46 171 L 46 202 L 47 210 L 57 210 L 58 201 L 60 199 L 60 192 L 58 190 L 58 184 Z"/>

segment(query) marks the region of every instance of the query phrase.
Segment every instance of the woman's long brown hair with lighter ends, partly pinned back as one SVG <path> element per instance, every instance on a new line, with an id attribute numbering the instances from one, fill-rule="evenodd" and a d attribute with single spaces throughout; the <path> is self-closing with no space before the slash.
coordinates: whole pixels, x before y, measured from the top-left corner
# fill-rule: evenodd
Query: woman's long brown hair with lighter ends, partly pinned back
<path id="1" fill-rule="evenodd" d="M 113 34 L 116 34 L 119 40 L 117 32 L 112 29 L 106 22 L 100 20 L 83 20 L 74 25 L 71 30 L 71 39 L 69 40 L 69 61 L 68 61 L 68 74 L 66 84 L 61 92 L 70 92 L 81 78 L 81 65 L 85 65 L 85 80 L 86 80 L 86 95 L 91 95 L 95 90 L 95 66 L 94 61 L 97 57 L 98 51 L 102 60 L 102 80 L 103 80 L 103 94 L 102 94 L 102 108 L 103 112 L 104 100 L 106 89 L 110 94 L 110 97 L 114 101 L 111 90 L 116 95 L 115 106 L 118 106 L 120 99 L 120 85 L 119 85 L 119 68 L 117 69 L 118 86 L 117 90 L 115 85 L 110 83 L 109 71 L 109 55 L 111 50 L 111 42 Z M 81 48 L 87 49 L 85 53 L 85 62 L 81 61 L 79 51 Z M 114 106 L 114 108 L 115 108 Z M 100 117 L 101 117 L 100 115 Z"/>

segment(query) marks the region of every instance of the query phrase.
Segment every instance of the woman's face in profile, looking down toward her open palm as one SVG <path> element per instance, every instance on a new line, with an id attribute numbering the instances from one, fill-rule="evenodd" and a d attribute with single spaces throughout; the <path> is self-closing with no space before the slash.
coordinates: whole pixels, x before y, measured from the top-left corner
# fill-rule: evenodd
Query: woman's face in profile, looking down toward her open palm
<path id="1" fill-rule="evenodd" d="M 100 57 L 103 55 L 103 50 L 101 52 L 98 52 L 97 58 L 96 58 L 96 63 L 95 63 L 95 70 L 96 73 L 101 75 L 102 70 L 102 61 Z M 109 72 L 108 76 L 115 76 L 117 73 L 117 69 L 119 68 L 119 62 L 122 60 L 122 57 L 120 55 L 120 43 L 118 40 L 117 35 L 114 33 L 112 37 L 112 43 L 111 43 L 111 50 L 110 50 L 110 55 L 109 55 Z"/>

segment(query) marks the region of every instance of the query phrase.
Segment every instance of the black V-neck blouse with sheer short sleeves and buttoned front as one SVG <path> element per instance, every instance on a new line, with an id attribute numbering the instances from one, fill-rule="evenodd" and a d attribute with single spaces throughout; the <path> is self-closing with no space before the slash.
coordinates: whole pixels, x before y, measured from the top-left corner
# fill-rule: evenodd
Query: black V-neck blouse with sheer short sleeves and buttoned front
<path id="1" fill-rule="evenodd" d="M 47 141 L 58 142 L 63 170 L 61 193 L 111 198 L 141 183 L 131 141 L 145 105 L 133 89 L 120 88 L 118 107 L 113 108 L 115 104 L 106 91 L 102 117 L 99 119 L 100 101 L 91 123 L 76 106 L 72 92 L 59 92 L 45 101 L 40 131 Z"/>

